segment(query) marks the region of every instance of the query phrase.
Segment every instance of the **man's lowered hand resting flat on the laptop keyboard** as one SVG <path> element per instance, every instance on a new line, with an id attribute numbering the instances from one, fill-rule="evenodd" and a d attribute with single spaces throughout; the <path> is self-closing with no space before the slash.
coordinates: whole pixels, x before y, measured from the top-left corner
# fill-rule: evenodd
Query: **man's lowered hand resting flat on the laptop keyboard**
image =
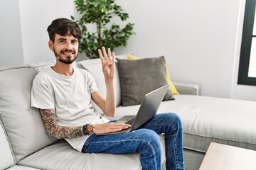
<path id="1" fill-rule="evenodd" d="M 98 125 L 92 125 L 93 132 L 95 134 L 118 132 L 124 129 L 131 128 L 131 125 L 124 123 L 103 123 Z"/>

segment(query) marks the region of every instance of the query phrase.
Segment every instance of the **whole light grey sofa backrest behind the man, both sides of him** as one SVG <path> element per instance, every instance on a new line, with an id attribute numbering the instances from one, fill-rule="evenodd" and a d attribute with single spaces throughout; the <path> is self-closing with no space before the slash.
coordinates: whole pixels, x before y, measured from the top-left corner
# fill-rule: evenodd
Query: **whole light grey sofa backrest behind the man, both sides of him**
<path id="1" fill-rule="evenodd" d="M 124 58 L 126 55 L 117 57 Z M 12 165 L 55 142 L 46 135 L 38 109 L 31 108 L 32 81 L 38 72 L 53 64 L 54 62 L 38 62 L 14 67 L 0 67 L 0 120 L 5 130 L 3 132 L 6 132 L 2 134 L 7 135 L 11 153 L 14 155 L 13 162 L 10 159 L 10 162 L 6 162 L 3 166 Z M 95 77 L 99 90 L 105 95 L 105 79 L 100 59 L 83 60 L 76 64 L 82 69 L 87 69 Z M 73 67 L 76 65 L 73 64 Z M 114 89 L 116 104 L 119 106 L 121 105 L 121 90 L 117 69 L 115 70 Z M 0 164 L 2 164 L 1 159 Z"/>

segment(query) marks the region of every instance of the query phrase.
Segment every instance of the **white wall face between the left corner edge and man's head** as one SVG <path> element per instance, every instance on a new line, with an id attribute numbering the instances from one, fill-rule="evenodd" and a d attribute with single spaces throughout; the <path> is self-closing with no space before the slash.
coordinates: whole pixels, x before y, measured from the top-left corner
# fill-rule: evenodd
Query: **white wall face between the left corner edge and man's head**
<path id="1" fill-rule="evenodd" d="M 24 62 L 55 60 L 48 48 L 47 27 L 55 18 L 70 18 L 73 1 L 19 0 Z"/>

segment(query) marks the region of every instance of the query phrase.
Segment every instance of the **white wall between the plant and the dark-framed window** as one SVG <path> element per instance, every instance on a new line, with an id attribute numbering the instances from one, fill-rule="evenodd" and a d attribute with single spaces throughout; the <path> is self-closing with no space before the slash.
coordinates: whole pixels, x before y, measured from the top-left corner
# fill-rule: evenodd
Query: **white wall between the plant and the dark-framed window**
<path id="1" fill-rule="evenodd" d="M 137 33 L 127 47 L 138 57 L 164 55 L 171 79 L 201 85 L 201 95 L 256 101 L 255 94 L 239 96 L 237 77 L 244 12 L 240 0 L 118 0 L 135 23 Z M 242 16 L 243 17 L 243 16 Z M 238 33 L 239 31 L 239 33 Z M 255 86 L 250 86 L 250 90 Z"/>

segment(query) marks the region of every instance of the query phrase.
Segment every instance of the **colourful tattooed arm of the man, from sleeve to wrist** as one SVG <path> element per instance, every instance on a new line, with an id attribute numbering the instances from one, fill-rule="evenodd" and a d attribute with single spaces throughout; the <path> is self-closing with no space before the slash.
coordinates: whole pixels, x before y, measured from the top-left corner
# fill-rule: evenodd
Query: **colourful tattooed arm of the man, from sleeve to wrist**
<path id="1" fill-rule="evenodd" d="M 56 113 L 53 109 L 40 109 L 46 132 L 53 140 L 81 137 L 83 126 L 60 126 L 57 124 Z"/>

